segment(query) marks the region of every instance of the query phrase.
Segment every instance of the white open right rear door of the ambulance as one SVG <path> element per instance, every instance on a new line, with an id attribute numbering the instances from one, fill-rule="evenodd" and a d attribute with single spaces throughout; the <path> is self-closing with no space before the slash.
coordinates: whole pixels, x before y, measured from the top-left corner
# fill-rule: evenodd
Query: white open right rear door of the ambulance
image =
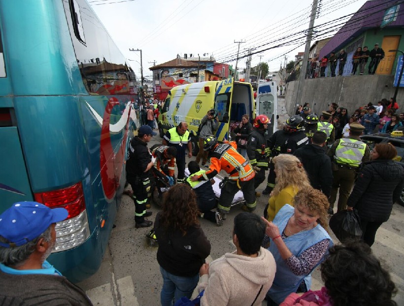
<path id="1" fill-rule="evenodd" d="M 256 98 L 256 114 L 267 115 L 270 119 L 268 124 L 268 137 L 278 129 L 278 96 L 276 82 L 264 82 L 258 84 Z"/>

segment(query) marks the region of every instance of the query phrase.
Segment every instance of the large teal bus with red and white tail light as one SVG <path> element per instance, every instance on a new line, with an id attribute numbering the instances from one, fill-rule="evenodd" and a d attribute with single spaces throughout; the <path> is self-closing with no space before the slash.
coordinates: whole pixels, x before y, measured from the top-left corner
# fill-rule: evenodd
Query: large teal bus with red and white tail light
<path id="1" fill-rule="evenodd" d="M 0 1 L 0 213 L 65 207 L 49 261 L 95 273 L 126 182 L 135 74 L 85 0 Z"/>

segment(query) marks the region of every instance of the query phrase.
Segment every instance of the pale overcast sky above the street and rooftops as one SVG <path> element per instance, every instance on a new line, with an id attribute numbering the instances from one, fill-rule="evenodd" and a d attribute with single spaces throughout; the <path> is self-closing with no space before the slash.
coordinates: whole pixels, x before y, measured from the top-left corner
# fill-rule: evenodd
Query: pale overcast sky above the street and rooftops
<path id="1" fill-rule="evenodd" d="M 142 49 L 143 74 L 151 76 L 149 67 L 174 59 L 184 53 L 213 55 L 218 62 L 236 64 L 248 48 L 259 52 L 252 56 L 252 66 L 269 64 L 270 71 L 304 51 L 304 31 L 308 28 L 312 0 L 88 0 L 101 22 L 129 61 L 140 74 Z M 320 16 L 314 26 L 321 38 L 330 37 L 348 20 L 336 20 L 356 12 L 366 0 L 318 0 Z M 329 23 L 323 25 L 325 23 Z M 321 26 L 323 25 L 323 26 Z M 321 27 L 320 27 L 321 26 Z M 317 27 L 317 28 L 316 28 Z M 333 31 L 326 33 L 329 31 Z M 279 44 L 285 46 L 277 46 Z M 263 51 L 269 48 L 269 50 Z M 137 61 L 137 62 L 136 62 Z M 237 67 L 244 68 L 246 58 Z"/>

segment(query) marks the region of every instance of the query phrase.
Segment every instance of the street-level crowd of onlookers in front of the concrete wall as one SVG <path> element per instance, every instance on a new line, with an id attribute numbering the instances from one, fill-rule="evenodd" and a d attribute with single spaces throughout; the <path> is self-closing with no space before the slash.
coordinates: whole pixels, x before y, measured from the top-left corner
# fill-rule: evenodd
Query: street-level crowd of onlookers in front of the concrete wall
<path id="1" fill-rule="evenodd" d="M 399 105 L 395 98 L 381 99 L 377 105 L 368 103 L 353 114 L 344 107 L 338 107 L 336 103 L 329 105 L 331 114 L 329 122 L 333 123 L 336 130 L 336 140 L 347 137 L 349 134 L 349 124 L 358 122 L 365 126 L 364 134 L 391 133 L 404 126 L 404 113 L 396 113 Z M 296 110 L 296 115 L 301 115 L 303 119 L 311 113 L 310 105 L 305 103 Z M 351 115 L 349 115 L 351 114 Z"/>

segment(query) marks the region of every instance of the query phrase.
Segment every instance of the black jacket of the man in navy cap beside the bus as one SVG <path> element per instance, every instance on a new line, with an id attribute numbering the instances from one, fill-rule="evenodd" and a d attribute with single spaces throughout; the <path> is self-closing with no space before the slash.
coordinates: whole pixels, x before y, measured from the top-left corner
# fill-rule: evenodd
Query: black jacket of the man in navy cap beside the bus
<path id="1" fill-rule="evenodd" d="M 126 161 L 126 176 L 128 182 L 134 182 L 136 177 L 150 176 L 151 171 L 144 172 L 151 161 L 151 154 L 147 143 L 134 137 L 129 145 L 129 157 Z"/>

